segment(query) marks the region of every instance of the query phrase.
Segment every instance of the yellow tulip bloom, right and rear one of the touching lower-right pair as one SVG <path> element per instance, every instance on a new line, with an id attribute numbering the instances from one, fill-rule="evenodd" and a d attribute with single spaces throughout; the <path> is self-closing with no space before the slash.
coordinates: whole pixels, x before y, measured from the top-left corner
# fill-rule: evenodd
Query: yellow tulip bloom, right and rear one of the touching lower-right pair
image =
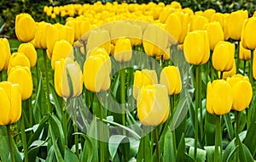
<path id="1" fill-rule="evenodd" d="M 232 87 L 233 104 L 232 109 L 242 111 L 246 109 L 253 98 L 253 87 L 247 76 L 233 75 L 227 81 Z"/>

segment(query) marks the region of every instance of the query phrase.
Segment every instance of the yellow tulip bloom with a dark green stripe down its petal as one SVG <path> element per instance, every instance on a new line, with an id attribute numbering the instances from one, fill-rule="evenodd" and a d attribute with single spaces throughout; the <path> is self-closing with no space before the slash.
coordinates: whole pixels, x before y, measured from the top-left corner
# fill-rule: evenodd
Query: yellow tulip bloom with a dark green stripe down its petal
<path id="1" fill-rule="evenodd" d="M 83 90 L 83 74 L 73 59 L 60 59 L 55 62 L 55 91 L 62 98 L 74 98 Z"/>

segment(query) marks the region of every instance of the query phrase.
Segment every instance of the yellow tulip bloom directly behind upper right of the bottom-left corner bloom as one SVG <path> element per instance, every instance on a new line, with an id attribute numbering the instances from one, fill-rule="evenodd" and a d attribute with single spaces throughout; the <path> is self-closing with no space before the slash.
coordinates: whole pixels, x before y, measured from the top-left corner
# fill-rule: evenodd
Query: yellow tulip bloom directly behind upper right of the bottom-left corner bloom
<path id="1" fill-rule="evenodd" d="M 8 81 L 20 85 L 21 99 L 26 100 L 32 96 L 32 74 L 28 67 L 15 66 L 8 75 Z"/>

